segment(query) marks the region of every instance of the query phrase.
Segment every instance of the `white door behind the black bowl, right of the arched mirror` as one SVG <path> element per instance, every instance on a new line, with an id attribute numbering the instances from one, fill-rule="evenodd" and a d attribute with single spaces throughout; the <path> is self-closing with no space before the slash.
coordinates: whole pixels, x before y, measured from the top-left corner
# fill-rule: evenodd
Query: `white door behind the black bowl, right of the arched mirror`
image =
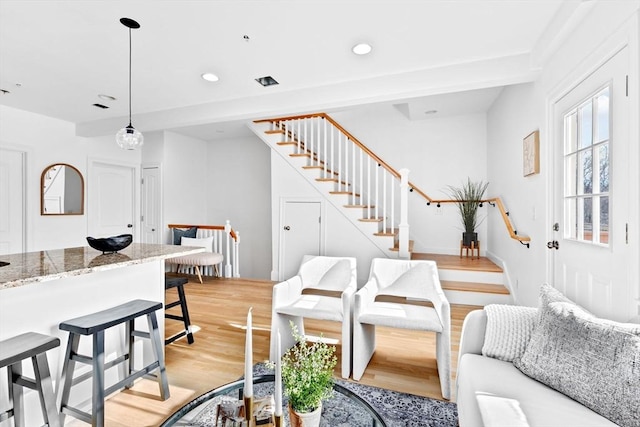
<path id="1" fill-rule="evenodd" d="M 135 169 L 93 162 L 89 172 L 89 235 L 135 235 Z"/>

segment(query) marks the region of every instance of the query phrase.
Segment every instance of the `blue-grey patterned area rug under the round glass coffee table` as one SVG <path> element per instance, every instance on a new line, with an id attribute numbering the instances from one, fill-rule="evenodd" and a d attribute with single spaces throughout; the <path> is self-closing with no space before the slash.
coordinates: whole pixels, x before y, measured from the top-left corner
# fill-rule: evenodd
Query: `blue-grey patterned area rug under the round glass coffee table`
<path id="1" fill-rule="evenodd" d="M 254 367 L 254 374 L 273 374 L 273 370 L 264 364 L 257 364 Z M 336 383 L 369 403 L 389 427 L 456 427 L 458 425 L 458 410 L 455 403 L 398 393 L 341 379 L 336 379 Z M 273 383 L 256 384 L 254 393 L 256 396 L 272 394 Z M 348 400 L 341 393 L 335 393 L 332 399 L 325 401 L 321 426 L 370 426 L 371 421 L 366 412 L 353 410 L 353 405 L 349 405 Z M 214 427 L 215 416 L 216 403 L 211 402 L 188 425 Z M 289 425 L 288 420 L 286 425 Z"/>

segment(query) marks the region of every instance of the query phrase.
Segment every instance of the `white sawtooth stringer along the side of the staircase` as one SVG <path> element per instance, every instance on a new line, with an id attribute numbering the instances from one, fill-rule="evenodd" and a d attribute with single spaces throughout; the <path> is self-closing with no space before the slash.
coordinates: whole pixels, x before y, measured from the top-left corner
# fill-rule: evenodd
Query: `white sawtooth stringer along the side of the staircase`
<path id="1" fill-rule="evenodd" d="M 398 258 L 398 252 L 391 249 L 395 246 L 396 236 L 376 236 L 374 233 L 381 231 L 379 223 L 363 222 L 354 219 L 353 208 L 346 208 L 348 200 L 344 195 L 334 195 L 327 191 L 328 184 L 316 180 L 317 174 L 313 170 L 303 169 L 303 157 L 291 157 L 287 146 L 280 146 L 278 142 L 282 142 L 282 134 L 267 134 L 270 129 L 268 123 L 249 123 L 247 126 L 274 152 L 278 153 L 300 176 L 302 176 L 311 186 L 313 186 L 322 197 L 325 198 L 338 212 L 340 212 L 356 229 L 358 229 L 371 243 L 373 243 L 380 252 L 387 258 Z"/>

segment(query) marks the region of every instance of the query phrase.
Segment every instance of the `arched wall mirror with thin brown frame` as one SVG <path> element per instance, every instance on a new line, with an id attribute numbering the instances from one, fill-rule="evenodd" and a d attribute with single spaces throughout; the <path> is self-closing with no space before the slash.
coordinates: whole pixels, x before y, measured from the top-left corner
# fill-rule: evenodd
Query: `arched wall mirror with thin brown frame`
<path id="1" fill-rule="evenodd" d="M 84 214 L 84 180 L 78 169 L 66 163 L 56 163 L 42 171 L 40 214 Z"/>

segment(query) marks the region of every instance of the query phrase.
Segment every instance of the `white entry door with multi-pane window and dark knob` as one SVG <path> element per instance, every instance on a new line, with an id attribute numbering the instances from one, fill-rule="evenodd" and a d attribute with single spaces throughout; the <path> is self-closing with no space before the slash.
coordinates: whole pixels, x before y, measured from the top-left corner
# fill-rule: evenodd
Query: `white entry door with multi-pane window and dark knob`
<path id="1" fill-rule="evenodd" d="M 595 314 L 621 321 L 632 317 L 627 70 L 625 48 L 554 105 L 548 244 L 554 285 Z"/>

